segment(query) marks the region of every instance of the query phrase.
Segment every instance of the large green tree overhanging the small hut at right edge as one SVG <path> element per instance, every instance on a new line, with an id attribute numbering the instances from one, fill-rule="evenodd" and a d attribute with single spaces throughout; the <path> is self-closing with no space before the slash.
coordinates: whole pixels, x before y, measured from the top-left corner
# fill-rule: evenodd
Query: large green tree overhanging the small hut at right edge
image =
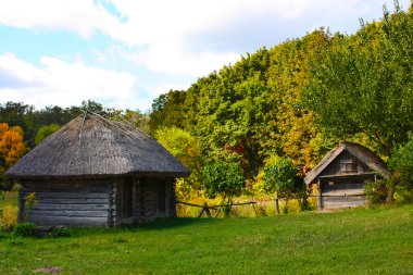
<path id="1" fill-rule="evenodd" d="M 395 5 L 314 62 L 303 95 L 325 130 L 342 139 L 363 134 L 385 157 L 413 130 L 413 13 Z"/>

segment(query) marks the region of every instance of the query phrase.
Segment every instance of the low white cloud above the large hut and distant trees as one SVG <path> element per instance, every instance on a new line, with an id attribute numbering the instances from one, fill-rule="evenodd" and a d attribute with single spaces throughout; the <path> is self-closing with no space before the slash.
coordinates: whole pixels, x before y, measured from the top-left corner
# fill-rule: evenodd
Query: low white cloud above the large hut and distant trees
<path id="1" fill-rule="evenodd" d="M 111 107 L 124 108 L 137 101 L 137 79 L 129 73 L 87 66 L 82 61 L 66 63 L 49 57 L 42 57 L 40 64 L 36 67 L 11 53 L 0 55 L 0 75 L 4 78 L 0 83 L 0 98 L 39 108 L 78 105 L 87 99 L 110 101 Z"/>

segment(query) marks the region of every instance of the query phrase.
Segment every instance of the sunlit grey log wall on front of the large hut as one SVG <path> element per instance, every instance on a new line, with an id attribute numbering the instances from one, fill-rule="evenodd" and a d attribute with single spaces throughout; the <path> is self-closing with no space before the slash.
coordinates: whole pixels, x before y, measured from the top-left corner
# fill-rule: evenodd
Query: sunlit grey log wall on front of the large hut
<path id="1" fill-rule="evenodd" d="M 111 226 L 113 215 L 113 183 L 107 182 L 25 182 L 21 198 L 35 192 L 36 203 L 28 222 L 38 225 Z M 24 201 L 21 203 L 23 220 Z M 30 212 L 29 210 L 26 212 Z"/>

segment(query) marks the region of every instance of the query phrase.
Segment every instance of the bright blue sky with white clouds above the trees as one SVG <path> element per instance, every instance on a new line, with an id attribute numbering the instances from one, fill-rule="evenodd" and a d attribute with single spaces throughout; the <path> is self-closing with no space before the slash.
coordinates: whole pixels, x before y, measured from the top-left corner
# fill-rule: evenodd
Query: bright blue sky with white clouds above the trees
<path id="1" fill-rule="evenodd" d="M 403 10 L 410 0 L 399 0 Z M 150 110 L 171 89 L 391 0 L 0 0 L 0 103 Z"/>

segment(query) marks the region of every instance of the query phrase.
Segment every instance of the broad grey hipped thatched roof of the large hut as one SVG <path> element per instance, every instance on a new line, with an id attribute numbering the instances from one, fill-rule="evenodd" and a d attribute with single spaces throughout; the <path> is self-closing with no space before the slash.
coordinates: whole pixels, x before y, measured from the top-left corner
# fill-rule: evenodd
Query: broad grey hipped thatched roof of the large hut
<path id="1" fill-rule="evenodd" d="M 135 126 L 87 112 L 50 135 L 5 173 L 11 178 L 127 174 L 178 177 L 190 172 Z"/>

